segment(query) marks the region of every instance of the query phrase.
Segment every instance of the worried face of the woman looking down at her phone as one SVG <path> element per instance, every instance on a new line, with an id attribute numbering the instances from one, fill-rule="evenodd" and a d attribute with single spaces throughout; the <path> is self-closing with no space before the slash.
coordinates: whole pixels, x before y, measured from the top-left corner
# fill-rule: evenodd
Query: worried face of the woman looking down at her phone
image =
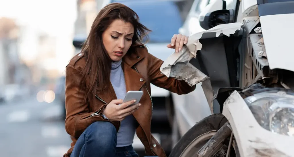
<path id="1" fill-rule="evenodd" d="M 114 20 L 102 34 L 103 45 L 113 61 L 119 61 L 131 47 L 134 27 L 129 22 Z"/>

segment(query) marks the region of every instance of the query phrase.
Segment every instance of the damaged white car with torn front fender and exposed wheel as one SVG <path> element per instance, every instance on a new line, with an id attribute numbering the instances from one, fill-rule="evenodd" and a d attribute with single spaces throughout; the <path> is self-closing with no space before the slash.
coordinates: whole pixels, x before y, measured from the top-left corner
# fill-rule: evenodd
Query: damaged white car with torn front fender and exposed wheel
<path id="1" fill-rule="evenodd" d="M 212 113 L 181 137 L 170 157 L 294 156 L 294 0 L 236 6 L 208 4 L 199 18 L 207 31 L 190 36 L 161 67 L 168 77 L 202 86 Z M 214 100 L 222 113 L 213 114 Z"/>

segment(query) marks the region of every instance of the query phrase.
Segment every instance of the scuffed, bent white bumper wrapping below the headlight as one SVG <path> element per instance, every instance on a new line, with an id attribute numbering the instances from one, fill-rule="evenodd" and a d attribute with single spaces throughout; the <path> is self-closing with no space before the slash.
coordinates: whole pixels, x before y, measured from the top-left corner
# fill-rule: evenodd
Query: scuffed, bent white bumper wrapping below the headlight
<path id="1" fill-rule="evenodd" d="M 230 122 L 241 157 L 294 156 L 294 138 L 262 128 L 237 91 L 225 101 L 223 115 Z"/>

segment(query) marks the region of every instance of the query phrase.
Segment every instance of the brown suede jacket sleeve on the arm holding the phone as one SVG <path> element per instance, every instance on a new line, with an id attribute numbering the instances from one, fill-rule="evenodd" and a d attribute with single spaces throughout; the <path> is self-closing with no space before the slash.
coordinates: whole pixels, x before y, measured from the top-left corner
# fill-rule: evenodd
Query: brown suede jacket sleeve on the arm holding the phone
<path id="1" fill-rule="evenodd" d="M 80 89 L 80 72 L 72 65 L 67 65 L 65 78 L 65 129 L 68 134 L 78 138 L 93 122 L 105 120 L 98 113 L 101 113 L 106 105 L 102 105 L 94 113 L 90 113 L 89 104 L 83 102 L 86 94 L 84 90 Z"/>

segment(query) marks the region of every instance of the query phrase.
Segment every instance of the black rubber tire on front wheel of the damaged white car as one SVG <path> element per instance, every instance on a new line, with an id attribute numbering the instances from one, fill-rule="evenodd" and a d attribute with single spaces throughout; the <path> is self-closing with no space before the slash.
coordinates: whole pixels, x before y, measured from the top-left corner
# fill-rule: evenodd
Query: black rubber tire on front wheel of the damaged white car
<path id="1" fill-rule="evenodd" d="M 209 131 L 219 130 L 227 121 L 221 113 L 210 115 L 199 121 L 178 141 L 169 157 L 179 157 L 195 138 Z"/>

